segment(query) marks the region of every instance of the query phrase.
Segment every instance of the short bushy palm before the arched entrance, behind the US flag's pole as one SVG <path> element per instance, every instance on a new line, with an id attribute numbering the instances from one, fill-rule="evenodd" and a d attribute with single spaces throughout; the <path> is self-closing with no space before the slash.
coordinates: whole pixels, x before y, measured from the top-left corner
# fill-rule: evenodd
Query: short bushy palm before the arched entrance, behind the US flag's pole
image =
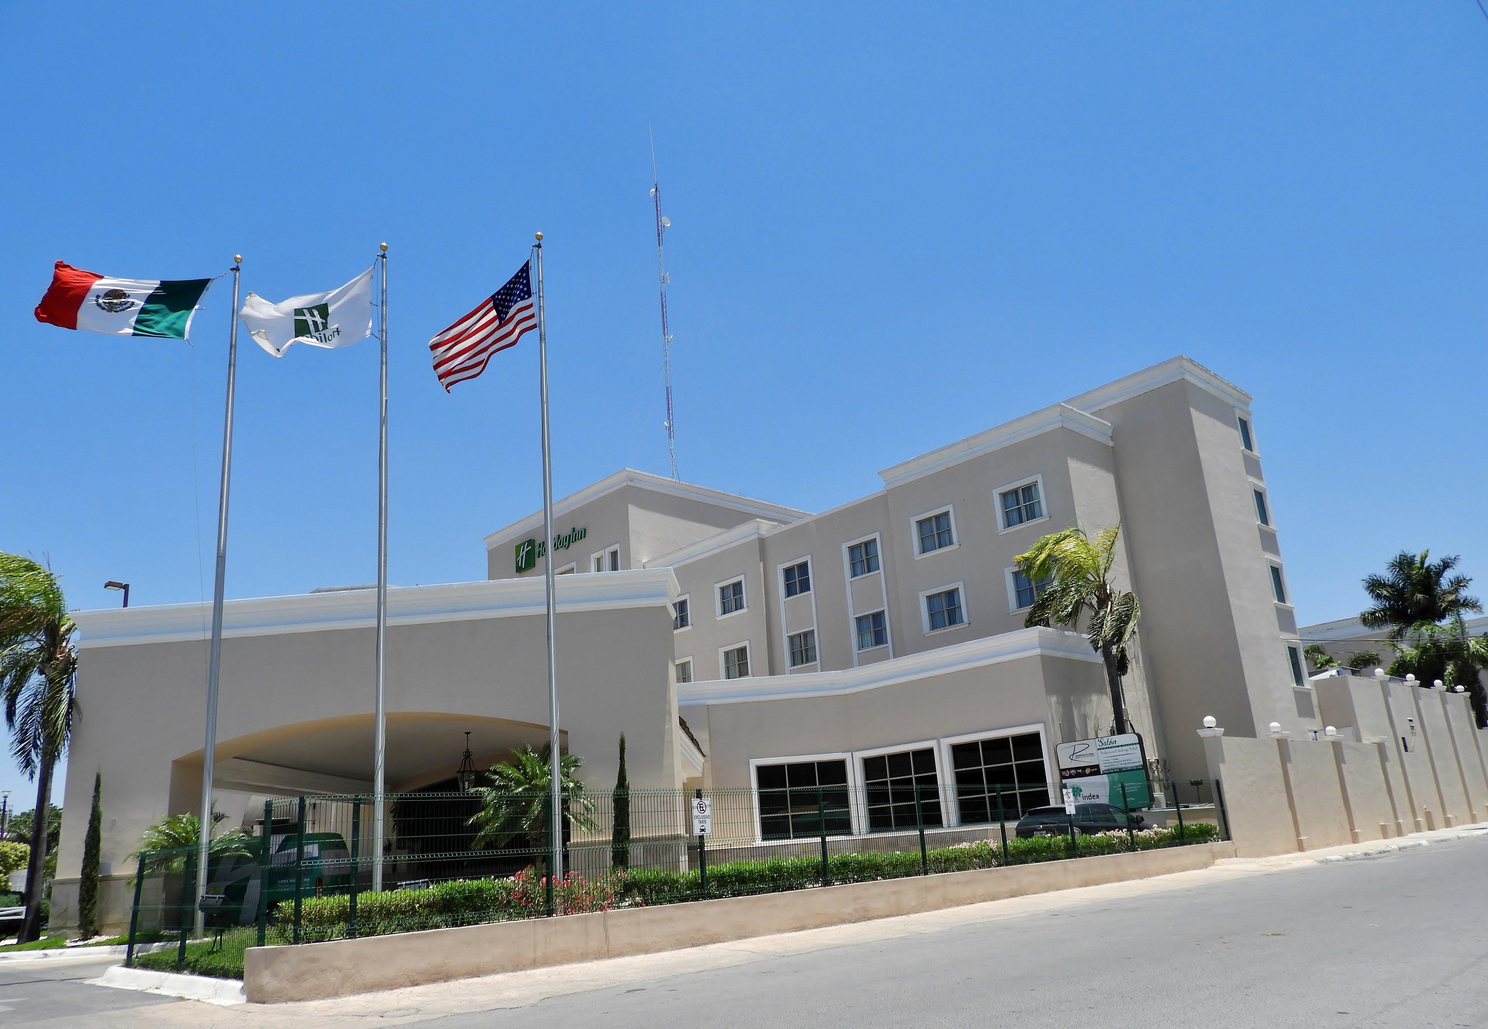
<path id="1" fill-rule="evenodd" d="M 481 810 L 469 821 L 476 827 L 475 846 L 506 846 L 525 836 L 528 846 L 537 854 L 536 862 L 545 864 L 548 854 L 548 810 L 552 803 L 552 754 L 545 745 L 540 754 L 522 743 L 512 751 L 510 764 L 493 764 L 487 773 L 488 787 L 476 787 L 472 793 L 481 799 Z M 558 760 L 559 790 L 564 796 L 564 816 L 570 825 L 592 831 L 594 803 L 583 796 L 583 784 L 574 772 L 583 764 L 577 754 L 564 754 Z"/>

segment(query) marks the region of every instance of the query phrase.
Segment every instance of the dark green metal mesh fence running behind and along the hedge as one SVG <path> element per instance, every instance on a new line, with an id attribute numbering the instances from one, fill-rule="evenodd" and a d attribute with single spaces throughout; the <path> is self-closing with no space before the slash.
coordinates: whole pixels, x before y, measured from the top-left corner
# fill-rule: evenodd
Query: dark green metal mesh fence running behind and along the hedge
<path id="1" fill-rule="evenodd" d="M 1171 806 L 1113 796 L 1067 810 L 1056 782 L 574 793 L 561 879 L 548 874 L 546 793 L 388 796 L 381 854 L 369 796 L 280 797 L 214 845 L 199 909 L 208 934 L 253 926 L 259 946 L 293 944 L 1229 839 L 1219 781 L 1150 782 L 1149 796 Z M 711 801 L 708 836 L 692 834 L 696 799 Z M 185 956 L 195 854 L 140 857 L 126 964 L 146 940 Z"/>

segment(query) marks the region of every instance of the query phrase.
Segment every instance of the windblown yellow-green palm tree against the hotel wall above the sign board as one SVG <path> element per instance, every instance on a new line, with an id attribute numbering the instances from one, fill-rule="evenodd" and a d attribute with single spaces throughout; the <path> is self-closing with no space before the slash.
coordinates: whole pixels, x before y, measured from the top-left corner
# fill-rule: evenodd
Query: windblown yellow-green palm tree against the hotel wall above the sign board
<path id="1" fill-rule="evenodd" d="M 1112 691 L 1117 735 L 1126 732 L 1120 693 L 1120 677 L 1126 674 L 1129 663 L 1126 645 L 1141 617 L 1137 595 L 1123 592 L 1110 581 L 1119 535 L 1120 525 L 1101 529 L 1094 540 L 1085 535 L 1085 529 L 1051 532 L 1034 543 L 1028 553 L 1013 559 L 1028 575 L 1028 581 L 1048 583 L 1028 608 L 1025 626 L 1077 628 L 1085 620 L 1091 648 L 1106 665 L 1106 686 Z"/>

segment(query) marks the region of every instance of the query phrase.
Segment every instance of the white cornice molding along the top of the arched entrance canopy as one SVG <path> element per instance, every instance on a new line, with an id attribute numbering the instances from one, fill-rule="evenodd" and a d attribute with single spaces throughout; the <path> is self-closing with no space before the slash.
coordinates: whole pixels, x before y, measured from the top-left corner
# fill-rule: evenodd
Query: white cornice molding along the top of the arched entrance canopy
<path id="1" fill-rule="evenodd" d="M 554 580 L 558 614 L 661 607 L 668 613 L 677 598 L 677 577 L 670 568 L 618 571 L 607 575 L 564 575 Z M 496 578 L 442 586 L 394 586 L 387 592 L 387 623 L 430 625 L 539 616 L 546 610 L 542 577 Z M 82 630 L 79 648 L 208 639 L 211 604 L 74 611 Z M 336 590 L 260 596 L 223 605 L 222 635 L 274 636 L 290 632 L 369 629 L 376 625 L 376 590 Z"/>

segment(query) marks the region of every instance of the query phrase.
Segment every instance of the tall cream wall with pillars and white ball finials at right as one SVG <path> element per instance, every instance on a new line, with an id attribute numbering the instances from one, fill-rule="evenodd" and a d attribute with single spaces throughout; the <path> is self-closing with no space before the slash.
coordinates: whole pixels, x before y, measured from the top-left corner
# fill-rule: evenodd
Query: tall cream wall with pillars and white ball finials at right
<path id="1" fill-rule="evenodd" d="M 1466 694 L 1362 677 L 1314 684 L 1335 738 L 1201 732 L 1237 854 L 1314 851 L 1488 819 L 1488 748 Z"/>

